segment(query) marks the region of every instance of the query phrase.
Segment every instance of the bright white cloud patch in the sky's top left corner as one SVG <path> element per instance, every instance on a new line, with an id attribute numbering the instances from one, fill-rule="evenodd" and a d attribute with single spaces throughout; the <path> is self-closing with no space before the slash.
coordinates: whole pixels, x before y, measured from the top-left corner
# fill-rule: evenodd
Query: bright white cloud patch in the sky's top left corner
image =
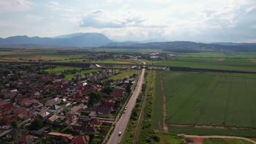
<path id="1" fill-rule="evenodd" d="M 31 9 L 32 2 L 27 0 L 0 1 L 0 13 L 12 13 Z"/>

